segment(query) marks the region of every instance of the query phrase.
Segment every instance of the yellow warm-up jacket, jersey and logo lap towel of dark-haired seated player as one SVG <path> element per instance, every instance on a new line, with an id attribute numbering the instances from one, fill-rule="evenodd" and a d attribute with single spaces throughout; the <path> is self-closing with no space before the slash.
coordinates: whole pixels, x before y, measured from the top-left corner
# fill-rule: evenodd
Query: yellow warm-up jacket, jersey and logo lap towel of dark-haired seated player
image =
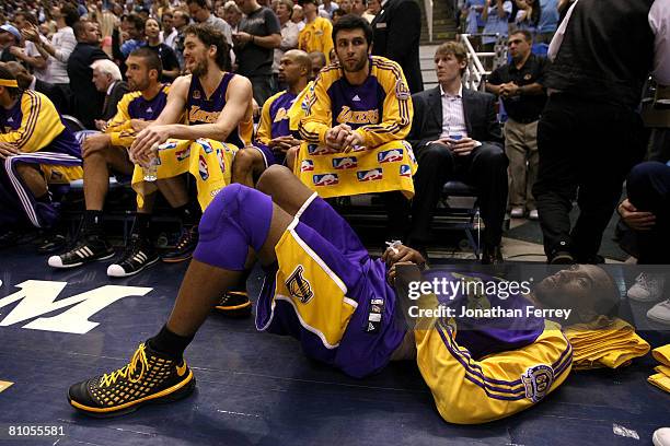
<path id="1" fill-rule="evenodd" d="M 383 57 L 370 57 L 370 75 L 351 85 L 339 63 L 320 73 L 305 97 L 300 121 L 300 146 L 296 175 L 321 197 L 401 190 L 414 196 L 412 176 L 417 163 L 409 132 L 412 97 L 400 66 Z M 332 153 L 326 131 L 346 124 L 363 140 L 349 153 Z"/>

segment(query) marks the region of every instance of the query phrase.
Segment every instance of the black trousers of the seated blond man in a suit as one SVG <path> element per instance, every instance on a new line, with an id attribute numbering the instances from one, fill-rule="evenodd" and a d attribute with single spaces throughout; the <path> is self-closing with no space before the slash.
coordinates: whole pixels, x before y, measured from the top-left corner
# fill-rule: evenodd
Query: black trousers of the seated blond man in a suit
<path id="1" fill-rule="evenodd" d="M 417 160 L 409 244 L 423 247 L 430 242 L 430 224 L 442 187 L 444 183 L 458 179 L 477 188 L 480 212 L 486 225 L 484 243 L 499 245 L 507 208 L 509 163 L 505 150 L 483 143 L 470 155 L 459 156 L 442 144 L 428 144 L 417 151 Z"/>

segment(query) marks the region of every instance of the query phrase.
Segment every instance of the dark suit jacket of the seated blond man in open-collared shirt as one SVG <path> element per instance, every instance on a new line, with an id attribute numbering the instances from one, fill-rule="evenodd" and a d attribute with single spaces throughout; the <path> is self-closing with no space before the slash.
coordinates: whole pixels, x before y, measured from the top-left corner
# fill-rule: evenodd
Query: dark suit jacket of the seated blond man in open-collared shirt
<path id="1" fill-rule="evenodd" d="M 407 140 L 420 151 L 442 133 L 442 97 L 440 87 L 412 95 L 414 120 Z M 467 136 L 480 142 L 504 145 L 503 131 L 495 108 L 496 96 L 463 87 L 463 115 Z"/>

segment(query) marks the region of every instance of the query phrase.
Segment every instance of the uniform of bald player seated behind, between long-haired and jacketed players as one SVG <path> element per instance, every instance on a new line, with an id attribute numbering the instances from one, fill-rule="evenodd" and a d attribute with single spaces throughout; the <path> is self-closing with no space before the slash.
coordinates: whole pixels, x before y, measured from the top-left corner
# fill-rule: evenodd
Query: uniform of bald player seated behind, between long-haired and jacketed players
<path id="1" fill-rule="evenodd" d="M 293 106 L 297 96 L 297 94 L 286 90 L 270 96 L 265 104 L 263 104 L 261 124 L 256 131 L 256 146 L 262 145 L 266 149 L 266 153 L 269 152 L 272 154 L 273 162 L 269 162 L 266 157 L 266 165 L 276 163 L 284 164 L 285 155 L 272 152 L 268 144 L 270 140 L 275 138 L 288 137 L 291 134 L 289 128 L 289 110 Z"/>

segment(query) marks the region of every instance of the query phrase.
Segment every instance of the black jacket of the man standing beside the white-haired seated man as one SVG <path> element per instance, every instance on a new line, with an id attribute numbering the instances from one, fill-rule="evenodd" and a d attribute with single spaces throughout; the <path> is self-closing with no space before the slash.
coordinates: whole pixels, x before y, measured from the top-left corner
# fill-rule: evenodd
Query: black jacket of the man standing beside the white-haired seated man
<path id="1" fill-rule="evenodd" d="M 105 94 L 93 85 L 91 63 L 95 60 L 108 59 L 100 47 L 78 43 L 68 59 L 68 77 L 70 78 L 71 111 L 86 128 L 95 129 L 95 119 L 100 119 Z"/>

